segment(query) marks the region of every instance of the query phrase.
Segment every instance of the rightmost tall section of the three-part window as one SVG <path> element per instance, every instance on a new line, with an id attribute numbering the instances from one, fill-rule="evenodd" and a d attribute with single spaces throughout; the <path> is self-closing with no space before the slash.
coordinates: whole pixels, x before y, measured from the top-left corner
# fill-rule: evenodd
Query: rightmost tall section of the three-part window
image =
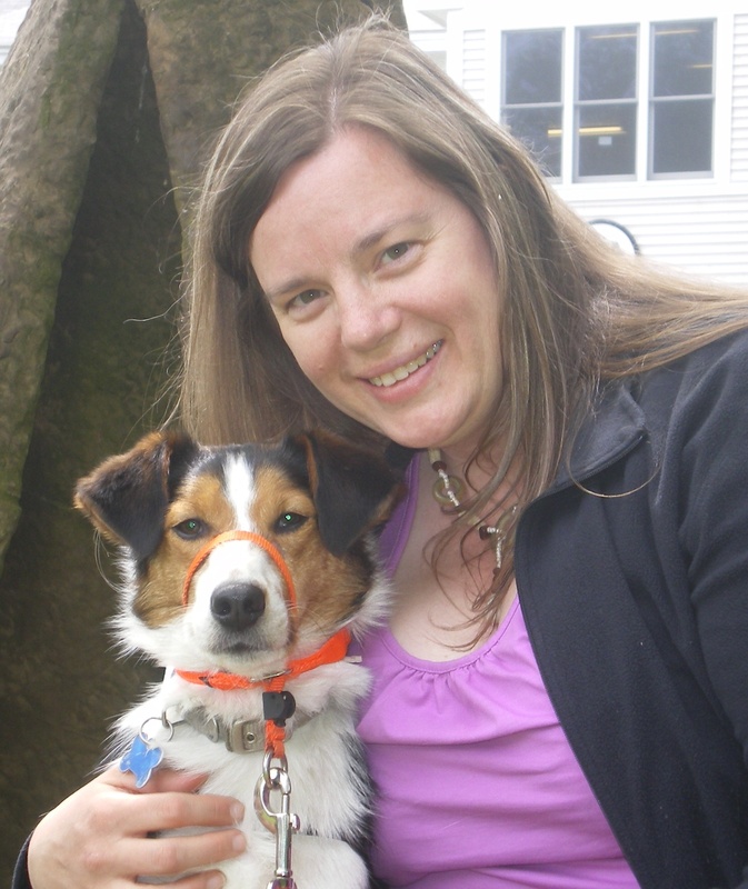
<path id="1" fill-rule="evenodd" d="M 650 176 L 711 172 L 715 28 L 652 26 Z"/>

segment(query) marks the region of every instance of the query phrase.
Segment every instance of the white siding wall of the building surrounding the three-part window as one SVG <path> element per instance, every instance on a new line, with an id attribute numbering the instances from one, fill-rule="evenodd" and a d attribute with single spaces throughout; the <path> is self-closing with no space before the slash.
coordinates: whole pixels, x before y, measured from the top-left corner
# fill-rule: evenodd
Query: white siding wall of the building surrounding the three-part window
<path id="1" fill-rule="evenodd" d="M 696 9 L 694 8 L 696 7 Z M 740 9 L 742 7 L 742 10 Z M 428 10 L 429 14 L 420 14 Z M 441 52 L 445 69 L 496 120 L 500 117 L 501 30 L 597 23 L 717 19 L 717 79 L 712 174 L 647 180 L 646 162 L 636 180 L 574 182 L 562 176 L 552 187 L 587 220 L 625 226 L 640 252 L 686 273 L 725 283 L 748 283 L 748 11 L 745 2 L 689 4 L 674 0 L 631 0 L 601 12 L 589 6 L 536 0 L 532 4 L 479 0 L 406 0 L 413 42 Z M 567 62 L 571 64 L 570 61 Z M 646 94 L 646 92 L 644 93 Z M 641 99 L 644 101 L 644 99 Z"/>

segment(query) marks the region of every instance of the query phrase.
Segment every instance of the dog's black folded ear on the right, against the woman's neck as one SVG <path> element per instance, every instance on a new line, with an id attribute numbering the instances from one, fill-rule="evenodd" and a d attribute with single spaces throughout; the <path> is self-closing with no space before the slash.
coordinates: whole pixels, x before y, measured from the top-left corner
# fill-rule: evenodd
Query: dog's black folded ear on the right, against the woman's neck
<path id="1" fill-rule="evenodd" d="M 342 556 L 361 535 L 389 518 L 402 486 L 382 458 L 336 436 L 306 432 L 296 441 L 307 453 L 322 541 L 335 556 Z"/>

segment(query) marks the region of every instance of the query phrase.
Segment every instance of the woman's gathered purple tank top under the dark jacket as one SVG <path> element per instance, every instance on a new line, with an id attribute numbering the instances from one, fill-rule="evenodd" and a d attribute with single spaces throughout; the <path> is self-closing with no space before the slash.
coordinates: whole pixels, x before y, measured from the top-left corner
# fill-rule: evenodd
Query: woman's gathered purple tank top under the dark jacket
<path id="1" fill-rule="evenodd" d="M 382 536 L 390 571 L 416 489 Z M 559 726 L 518 601 L 456 660 L 415 658 L 388 629 L 361 655 L 373 675 L 359 732 L 377 788 L 378 877 L 410 889 L 638 886 Z"/>

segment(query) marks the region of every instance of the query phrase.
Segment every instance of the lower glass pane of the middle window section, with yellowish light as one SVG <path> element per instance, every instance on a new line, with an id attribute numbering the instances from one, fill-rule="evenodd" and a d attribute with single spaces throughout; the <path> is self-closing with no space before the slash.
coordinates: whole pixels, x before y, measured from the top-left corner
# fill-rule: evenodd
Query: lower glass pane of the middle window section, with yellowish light
<path id="1" fill-rule="evenodd" d="M 580 177 L 632 176 L 636 104 L 581 106 L 577 147 Z"/>

